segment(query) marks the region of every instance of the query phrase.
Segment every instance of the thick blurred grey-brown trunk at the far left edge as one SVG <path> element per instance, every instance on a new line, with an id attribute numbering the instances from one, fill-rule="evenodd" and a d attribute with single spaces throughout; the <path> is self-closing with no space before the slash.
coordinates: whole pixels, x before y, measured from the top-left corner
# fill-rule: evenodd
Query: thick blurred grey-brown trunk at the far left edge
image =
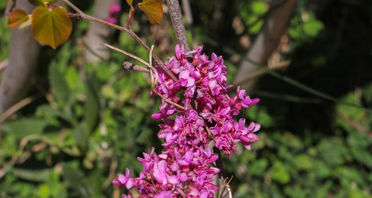
<path id="1" fill-rule="evenodd" d="M 18 0 L 15 8 L 31 13 L 34 6 L 26 0 Z M 26 96 L 40 49 L 32 37 L 31 27 L 12 30 L 10 45 L 9 62 L 0 83 L 0 114 Z"/>

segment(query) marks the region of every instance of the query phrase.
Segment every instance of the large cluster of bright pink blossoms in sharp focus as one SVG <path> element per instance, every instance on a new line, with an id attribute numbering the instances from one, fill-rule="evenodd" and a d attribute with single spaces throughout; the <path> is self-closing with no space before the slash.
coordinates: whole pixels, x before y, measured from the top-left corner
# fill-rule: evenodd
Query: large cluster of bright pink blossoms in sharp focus
<path id="1" fill-rule="evenodd" d="M 250 99 L 245 90 L 237 89 L 237 95 L 230 98 L 226 85 L 226 74 L 222 56 L 212 53 L 211 59 L 201 54 L 202 47 L 184 52 L 176 46 L 176 55 L 165 63 L 178 78 L 175 82 L 160 67 L 156 67 L 159 85 L 155 88 L 166 99 L 184 108 L 163 100 L 160 111 L 153 119 L 162 119 L 160 139 L 165 146 L 161 154 L 143 153 L 138 158 L 143 172 L 137 178 L 120 174 L 113 184 L 130 189 L 136 187 L 140 198 L 213 198 L 218 187 L 213 185 L 213 176 L 220 170 L 213 163 L 218 154 L 208 148 L 210 142 L 226 156 L 237 151 L 238 142 L 250 149 L 250 143 L 258 140 L 254 134 L 260 125 L 251 122 L 245 126 L 245 119 L 238 122 L 234 116 L 242 108 L 256 104 L 259 99 Z M 180 95 L 180 93 L 183 93 Z M 155 95 L 154 93 L 152 93 Z M 174 114 L 177 114 L 175 117 Z M 123 195 L 131 198 L 131 194 Z"/>

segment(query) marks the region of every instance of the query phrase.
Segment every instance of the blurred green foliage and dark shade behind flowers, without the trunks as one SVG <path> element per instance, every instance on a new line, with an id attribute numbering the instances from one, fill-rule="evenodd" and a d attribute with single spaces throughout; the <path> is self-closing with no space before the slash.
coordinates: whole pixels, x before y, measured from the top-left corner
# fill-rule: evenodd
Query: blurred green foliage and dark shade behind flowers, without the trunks
<path id="1" fill-rule="evenodd" d="M 190 2 L 198 42 L 209 37 L 241 53 L 247 49 L 239 38 L 248 35 L 252 41 L 268 11 L 264 0 Z M 317 2 L 298 2 L 288 29 L 290 50 L 283 53 L 292 64 L 282 73 L 371 108 L 372 3 L 336 0 L 322 8 Z M 88 12 L 90 5 L 84 8 Z M 0 13 L 4 6 L 0 0 Z M 245 27 L 239 34 L 231 27 L 236 16 Z M 0 19 L 0 60 L 10 46 L 6 22 Z M 140 172 L 136 157 L 143 151 L 161 150 L 158 122 L 150 117 L 160 102 L 150 97 L 148 77 L 121 69 L 126 57 L 116 52 L 110 61 L 82 62 L 78 40 L 89 23 L 74 24 L 66 44 L 56 51 L 42 49 L 36 85 L 50 89 L 54 100 L 41 97 L 0 126 L 1 198 L 118 197 L 123 191 L 111 180 L 125 167 Z M 139 26 L 133 29 L 150 44 L 148 24 Z M 112 43 L 147 59 L 147 52 L 123 33 Z M 204 46 L 208 54 L 224 55 L 231 83 L 238 64 L 220 49 Z M 38 92 L 35 88 L 30 95 Z M 224 175 L 234 176 L 234 197 L 372 198 L 371 113 L 315 98 L 270 76 L 261 78 L 252 96 L 261 102 L 242 117 L 261 123 L 260 140 L 252 150 L 223 159 Z"/>

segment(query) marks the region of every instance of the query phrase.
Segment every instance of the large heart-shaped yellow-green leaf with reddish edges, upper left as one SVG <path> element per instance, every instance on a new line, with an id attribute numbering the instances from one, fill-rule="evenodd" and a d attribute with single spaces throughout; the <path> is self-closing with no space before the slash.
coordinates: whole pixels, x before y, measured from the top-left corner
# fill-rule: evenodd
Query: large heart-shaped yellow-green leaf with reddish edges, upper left
<path id="1" fill-rule="evenodd" d="M 71 20 L 62 7 L 48 9 L 39 6 L 32 13 L 32 34 L 41 44 L 56 49 L 68 40 L 71 31 Z"/>

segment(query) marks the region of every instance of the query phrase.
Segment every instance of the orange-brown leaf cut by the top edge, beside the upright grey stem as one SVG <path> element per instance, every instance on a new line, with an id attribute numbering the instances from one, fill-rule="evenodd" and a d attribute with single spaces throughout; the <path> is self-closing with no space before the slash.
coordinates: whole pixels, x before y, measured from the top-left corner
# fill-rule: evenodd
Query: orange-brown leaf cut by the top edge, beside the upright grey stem
<path id="1" fill-rule="evenodd" d="M 143 0 L 139 3 L 139 8 L 143 10 L 151 24 L 160 24 L 163 18 L 163 7 L 161 0 Z"/>

